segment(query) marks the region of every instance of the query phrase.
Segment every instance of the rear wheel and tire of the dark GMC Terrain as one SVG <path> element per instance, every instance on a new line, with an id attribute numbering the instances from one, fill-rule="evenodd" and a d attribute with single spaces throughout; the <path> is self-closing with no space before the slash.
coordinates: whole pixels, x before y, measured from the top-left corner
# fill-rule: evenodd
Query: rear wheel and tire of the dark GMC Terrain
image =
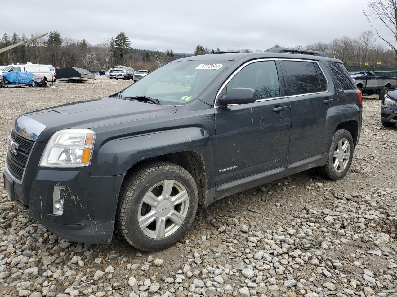
<path id="1" fill-rule="evenodd" d="M 343 152 L 340 151 L 338 154 L 339 147 L 345 146 L 345 143 L 348 143 L 348 146 Z M 349 154 L 349 158 L 346 159 L 346 154 Z M 332 137 L 330 150 L 328 152 L 327 162 L 324 166 L 318 168 L 319 173 L 328 179 L 338 180 L 343 178 L 347 171 L 349 171 L 351 162 L 353 160 L 354 153 L 354 143 L 353 137 L 350 132 L 345 129 L 338 129 L 335 131 Z M 343 154 L 343 156 L 342 156 Z M 342 162 L 336 162 L 336 159 L 341 160 Z M 336 167 L 335 167 L 336 164 Z"/>

